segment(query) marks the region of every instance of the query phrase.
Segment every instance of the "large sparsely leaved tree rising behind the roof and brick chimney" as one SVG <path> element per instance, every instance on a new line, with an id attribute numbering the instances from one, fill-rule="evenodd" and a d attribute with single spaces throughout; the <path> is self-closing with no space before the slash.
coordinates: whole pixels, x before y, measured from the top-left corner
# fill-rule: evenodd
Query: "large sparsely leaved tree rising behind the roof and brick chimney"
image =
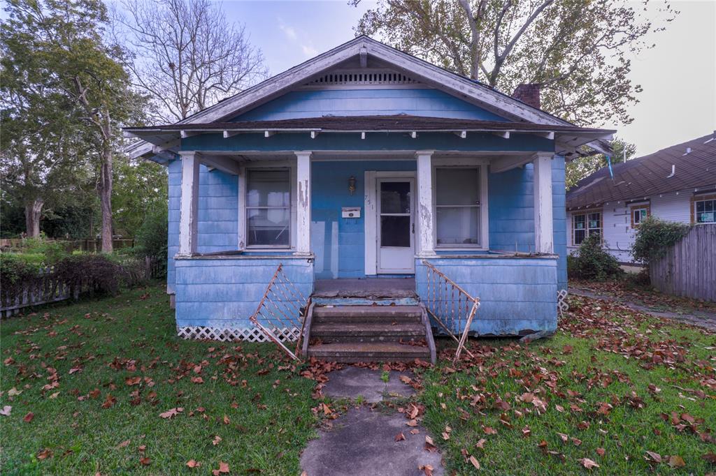
<path id="1" fill-rule="evenodd" d="M 644 14 L 618 0 L 379 0 L 355 31 L 507 94 L 541 84 L 543 109 L 576 124 L 627 124 L 642 90 L 629 58 L 662 29 L 649 18 L 674 18 L 662 5 Z"/>

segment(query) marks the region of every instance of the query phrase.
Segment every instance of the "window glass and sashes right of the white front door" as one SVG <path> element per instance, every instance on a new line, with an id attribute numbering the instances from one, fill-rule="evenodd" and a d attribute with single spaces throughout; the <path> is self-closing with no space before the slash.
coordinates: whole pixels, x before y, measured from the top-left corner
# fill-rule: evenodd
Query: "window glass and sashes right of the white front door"
<path id="1" fill-rule="evenodd" d="M 435 169 L 438 247 L 480 246 L 480 169 Z"/>

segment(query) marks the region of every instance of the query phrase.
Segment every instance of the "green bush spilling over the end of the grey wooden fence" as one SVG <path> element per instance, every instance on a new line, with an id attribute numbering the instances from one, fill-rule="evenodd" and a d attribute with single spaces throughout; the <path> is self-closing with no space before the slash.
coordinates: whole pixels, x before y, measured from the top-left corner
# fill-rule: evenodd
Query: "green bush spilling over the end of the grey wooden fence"
<path id="1" fill-rule="evenodd" d="M 632 257 L 637 262 L 649 264 L 652 259 L 664 256 L 667 249 L 686 236 L 690 229 L 688 224 L 648 217 L 639 223 L 632 246 Z"/>

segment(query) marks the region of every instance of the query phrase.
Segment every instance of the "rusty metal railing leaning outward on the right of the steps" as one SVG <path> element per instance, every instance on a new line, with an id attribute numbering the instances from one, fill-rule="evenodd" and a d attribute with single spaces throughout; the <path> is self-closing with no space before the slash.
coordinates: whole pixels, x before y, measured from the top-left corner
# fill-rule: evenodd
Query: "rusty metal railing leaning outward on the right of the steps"
<path id="1" fill-rule="evenodd" d="M 425 264 L 427 270 L 427 293 L 422 301 L 435 322 L 455 339 L 455 342 L 458 342 L 458 349 L 453 359 L 453 362 L 456 362 L 465 349 L 470 324 L 473 323 L 475 313 L 478 312 L 480 299 L 470 296 L 465 289 L 445 276 L 430 262 L 423 260 L 422 264 Z M 460 334 L 460 339 L 457 334 Z M 465 352 L 470 357 L 475 357 L 470 350 L 465 349 Z"/>

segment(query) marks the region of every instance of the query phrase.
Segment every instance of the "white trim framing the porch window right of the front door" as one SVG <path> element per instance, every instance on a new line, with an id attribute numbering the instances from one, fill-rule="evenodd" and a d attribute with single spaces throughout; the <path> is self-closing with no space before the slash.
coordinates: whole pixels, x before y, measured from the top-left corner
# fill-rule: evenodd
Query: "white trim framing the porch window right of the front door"
<path id="1" fill-rule="evenodd" d="M 488 203 L 488 165 L 484 159 L 453 158 L 453 159 L 432 159 L 432 229 L 434 230 L 432 242 L 435 251 L 488 251 L 490 249 L 490 210 Z M 435 187 L 437 174 L 436 169 L 465 169 L 474 167 L 479 169 L 480 174 L 480 244 L 466 244 L 464 246 L 445 246 L 437 244 L 437 189 Z"/>

